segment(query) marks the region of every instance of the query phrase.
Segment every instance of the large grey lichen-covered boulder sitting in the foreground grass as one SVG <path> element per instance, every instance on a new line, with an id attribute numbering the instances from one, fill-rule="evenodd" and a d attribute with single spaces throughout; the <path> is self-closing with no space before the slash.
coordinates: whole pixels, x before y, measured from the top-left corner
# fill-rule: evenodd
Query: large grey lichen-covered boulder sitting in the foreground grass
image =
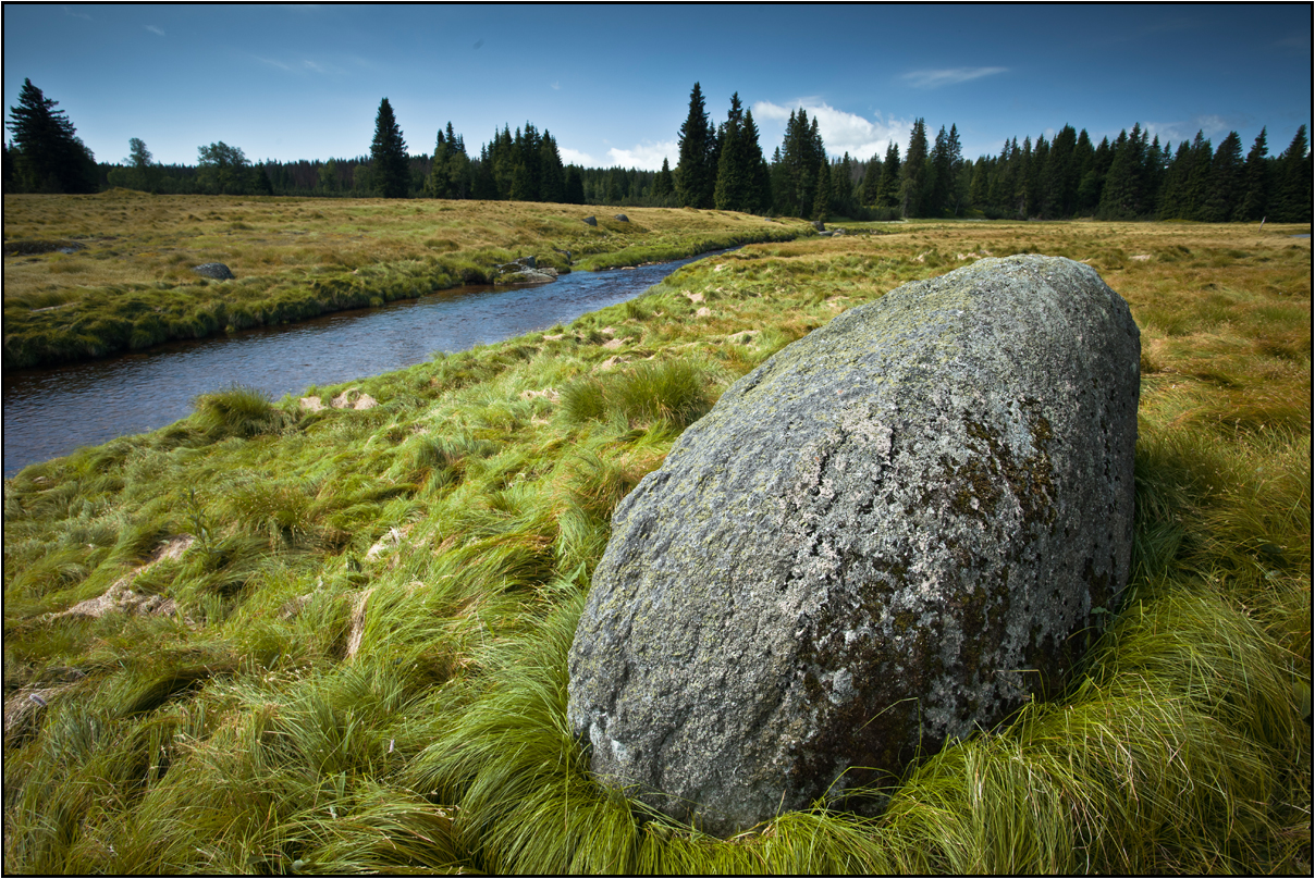
<path id="1" fill-rule="evenodd" d="M 569 654 L 590 767 L 729 834 L 1053 692 L 1128 577 L 1140 342 L 984 259 L 744 376 L 618 505 Z"/>

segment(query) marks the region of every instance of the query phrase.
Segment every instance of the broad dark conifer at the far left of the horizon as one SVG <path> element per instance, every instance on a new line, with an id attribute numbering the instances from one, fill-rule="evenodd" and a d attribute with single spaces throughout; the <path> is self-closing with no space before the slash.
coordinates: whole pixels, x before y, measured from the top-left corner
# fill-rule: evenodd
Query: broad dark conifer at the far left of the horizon
<path id="1" fill-rule="evenodd" d="M 13 134 L 14 177 L 29 192 L 96 192 L 96 159 L 57 106 L 30 79 L 22 80 L 18 106 L 9 108 L 5 122 Z"/>

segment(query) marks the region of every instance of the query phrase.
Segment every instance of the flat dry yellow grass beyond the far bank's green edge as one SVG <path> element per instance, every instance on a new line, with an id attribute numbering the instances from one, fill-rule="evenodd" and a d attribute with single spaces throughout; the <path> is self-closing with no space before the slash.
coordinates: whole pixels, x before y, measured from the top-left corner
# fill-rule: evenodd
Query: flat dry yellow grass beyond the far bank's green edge
<path id="1" fill-rule="evenodd" d="M 748 214 L 512 201 L 7 194 L 4 240 L 68 239 L 78 254 L 7 256 L 5 300 L 120 284 L 189 282 L 192 265 L 225 263 L 239 279 L 321 267 L 423 260 L 481 250 L 552 256 L 655 246 L 677 237 L 778 227 Z M 584 217 L 596 215 L 597 226 Z"/>

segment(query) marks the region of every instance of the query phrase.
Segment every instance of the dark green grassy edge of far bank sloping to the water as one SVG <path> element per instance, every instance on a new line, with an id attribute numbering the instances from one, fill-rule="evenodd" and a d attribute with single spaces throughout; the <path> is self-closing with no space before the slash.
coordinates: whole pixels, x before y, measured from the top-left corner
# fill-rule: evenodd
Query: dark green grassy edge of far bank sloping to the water
<path id="1" fill-rule="evenodd" d="M 760 233 L 700 234 L 680 244 L 627 246 L 611 254 L 594 254 L 575 265 L 576 271 L 604 271 L 639 263 L 663 263 L 717 250 L 767 242 L 786 242 L 815 234 L 802 223 L 763 229 Z M 551 252 L 540 256 L 558 271 L 571 267 Z M 508 256 L 510 259 L 510 256 Z M 335 311 L 381 307 L 398 300 L 471 284 L 492 284 L 498 259 L 488 264 L 455 254 L 413 265 L 381 264 L 352 272 L 335 272 L 304 282 L 285 279 L 200 281 L 185 288 L 105 288 L 89 290 L 79 302 L 30 310 L 4 310 L 5 369 L 57 367 L 99 360 L 126 351 L 145 351 L 167 342 L 208 339 L 225 332 L 262 326 L 296 323 Z M 147 297 L 167 292 L 183 294 L 176 301 L 153 305 Z M 134 296 L 134 294 L 142 296 Z M 113 301 L 108 301 L 113 298 Z"/>

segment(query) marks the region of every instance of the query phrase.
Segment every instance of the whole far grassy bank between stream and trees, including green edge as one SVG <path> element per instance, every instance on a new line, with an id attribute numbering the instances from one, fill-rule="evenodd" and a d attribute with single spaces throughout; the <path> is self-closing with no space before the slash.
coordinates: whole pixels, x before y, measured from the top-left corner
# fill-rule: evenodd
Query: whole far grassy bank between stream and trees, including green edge
<path id="1" fill-rule="evenodd" d="M 535 256 L 559 271 L 671 260 L 810 233 L 715 210 L 151 196 L 4 197 L 4 365 L 200 339 L 462 284 Z M 596 215 L 597 226 L 583 222 Z M 571 252 L 571 263 L 562 251 Z M 192 271 L 224 263 L 234 280 Z"/>

